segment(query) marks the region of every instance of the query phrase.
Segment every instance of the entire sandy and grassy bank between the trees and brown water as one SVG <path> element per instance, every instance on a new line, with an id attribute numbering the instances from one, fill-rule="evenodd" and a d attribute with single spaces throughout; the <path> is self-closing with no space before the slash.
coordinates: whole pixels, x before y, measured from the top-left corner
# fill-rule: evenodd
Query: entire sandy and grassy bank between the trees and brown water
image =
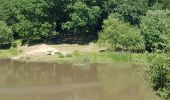
<path id="1" fill-rule="evenodd" d="M 96 44 L 21 46 L 0 50 L 0 58 L 36 62 L 146 62 L 146 53 L 108 52 Z"/>

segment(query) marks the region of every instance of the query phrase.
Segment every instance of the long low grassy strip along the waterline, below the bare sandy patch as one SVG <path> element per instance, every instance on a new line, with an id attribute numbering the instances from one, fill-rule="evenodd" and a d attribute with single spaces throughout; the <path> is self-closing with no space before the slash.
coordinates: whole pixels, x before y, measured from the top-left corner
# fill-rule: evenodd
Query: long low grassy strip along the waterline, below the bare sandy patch
<path id="1" fill-rule="evenodd" d="M 67 55 L 48 55 L 48 56 L 30 56 L 25 57 L 26 61 L 54 61 L 54 62 L 103 62 L 103 61 L 121 61 L 121 62 L 145 62 L 146 54 L 134 53 L 113 53 L 113 52 L 74 52 Z"/>

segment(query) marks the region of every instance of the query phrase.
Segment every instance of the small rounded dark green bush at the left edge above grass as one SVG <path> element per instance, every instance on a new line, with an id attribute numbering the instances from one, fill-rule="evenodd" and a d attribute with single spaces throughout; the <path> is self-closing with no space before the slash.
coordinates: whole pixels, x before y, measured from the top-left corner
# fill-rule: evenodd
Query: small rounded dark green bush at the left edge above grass
<path id="1" fill-rule="evenodd" d="M 13 35 L 11 29 L 5 24 L 5 22 L 0 21 L 0 47 L 3 44 L 10 44 L 13 40 Z"/>

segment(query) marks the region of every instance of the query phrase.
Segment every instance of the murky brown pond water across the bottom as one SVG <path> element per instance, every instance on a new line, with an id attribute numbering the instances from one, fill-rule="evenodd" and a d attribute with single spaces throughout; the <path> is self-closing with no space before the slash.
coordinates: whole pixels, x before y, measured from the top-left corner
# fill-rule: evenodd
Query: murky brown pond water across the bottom
<path id="1" fill-rule="evenodd" d="M 158 100 L 143 67 L 0 60 L 0 100 Z"/>

